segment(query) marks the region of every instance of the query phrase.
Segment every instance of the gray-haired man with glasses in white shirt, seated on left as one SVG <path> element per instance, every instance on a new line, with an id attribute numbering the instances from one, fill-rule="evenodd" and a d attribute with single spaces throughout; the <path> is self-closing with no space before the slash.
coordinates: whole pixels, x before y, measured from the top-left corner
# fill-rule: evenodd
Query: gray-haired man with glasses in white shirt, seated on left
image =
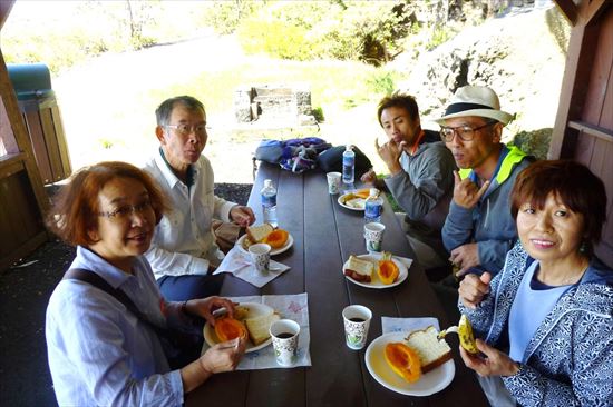
<path id="1" fill-rule="evenodd" d="M 213 219 L 245 227 L 255 220 L 249 207 L 214 195 L 213 168 L 202 151 L 208 139 L 204 106 L 191 96 L 162 102 L 155 111 L 159 148 L 146 163 L 167 195 L 171 210 L 156 226 L 149 260 L 159 290 L 173 301 L 217 295 L 211 276 L 224 255 L 215 244 Z"/>

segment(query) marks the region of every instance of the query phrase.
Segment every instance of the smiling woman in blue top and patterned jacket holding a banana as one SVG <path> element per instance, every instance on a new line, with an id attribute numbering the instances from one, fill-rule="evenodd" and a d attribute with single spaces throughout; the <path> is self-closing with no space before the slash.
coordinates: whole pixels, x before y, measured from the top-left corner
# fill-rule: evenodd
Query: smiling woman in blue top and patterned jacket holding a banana
<path id="1" fill-rule="evenodd" d="M 460 349 L 495 406 L 613 406 L 613 270 L 592 252 L 606 217 L 603 182 L 573 161 L 518 177 L 519 241 L 504 269 L 459 287 L 481 355 Z"/>

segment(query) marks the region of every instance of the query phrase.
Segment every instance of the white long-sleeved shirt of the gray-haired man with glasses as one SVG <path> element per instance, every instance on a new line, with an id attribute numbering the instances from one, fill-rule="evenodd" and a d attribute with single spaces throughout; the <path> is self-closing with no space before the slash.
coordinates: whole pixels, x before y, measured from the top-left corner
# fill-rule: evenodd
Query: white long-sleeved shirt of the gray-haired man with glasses
<path id="1" fill-rule="evenodd" d="M 169 199 L 171 210 L 155 228 L 149 250 L 145 254 L 155 278 L 163 276 L 205 275 L 208 265 L 218 266 L 224 255 L 215 245 L 211 228 L 214 218 L 230 221 L 236 205 L 214 195 L 213 168 L 201 156 L 192 165 L 191 188 L 168 168 L 159 150 L 143 168 L 158 182 Z"/>

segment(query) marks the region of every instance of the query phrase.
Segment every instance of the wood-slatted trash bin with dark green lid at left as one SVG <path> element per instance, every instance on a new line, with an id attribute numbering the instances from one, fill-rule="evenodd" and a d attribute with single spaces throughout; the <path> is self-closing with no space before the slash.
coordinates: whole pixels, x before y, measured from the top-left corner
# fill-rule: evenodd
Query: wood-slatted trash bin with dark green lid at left
<path id="1" fill-rule="evenodd" d="M 49 68 L 45 63 L 8 63 L 7 70 L 42 181 L 68 178 L 70 157 Z"/>

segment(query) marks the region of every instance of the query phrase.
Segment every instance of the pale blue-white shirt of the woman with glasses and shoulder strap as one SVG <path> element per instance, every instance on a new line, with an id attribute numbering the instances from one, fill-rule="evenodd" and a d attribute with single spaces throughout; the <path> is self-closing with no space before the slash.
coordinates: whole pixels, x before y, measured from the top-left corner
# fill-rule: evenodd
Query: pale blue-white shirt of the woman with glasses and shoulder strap
<path id="1" fill-rule="evenodd" d="M 136 259 L 134 275 L 127 275 L 79 246 L 70 268 L 96 272 L 156 325 L 181 326 L 181 304 L 164 301 L 144 257 Z M 184 401 L 181 373 L 171 371 L 156 334 L 114 297 L 87 282 L 58 284 L 47 307 L 46 339 L 60 406 L 181 406 Z"/>

